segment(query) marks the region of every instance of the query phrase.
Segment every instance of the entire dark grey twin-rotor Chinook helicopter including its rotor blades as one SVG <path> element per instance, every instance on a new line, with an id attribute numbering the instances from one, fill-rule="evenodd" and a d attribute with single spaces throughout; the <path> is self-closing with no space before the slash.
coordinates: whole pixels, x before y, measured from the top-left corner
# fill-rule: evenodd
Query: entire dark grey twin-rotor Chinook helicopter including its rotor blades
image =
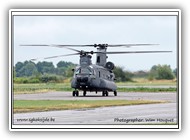
<path id="1" fill-rule="evenodd" d="M 132 53 L 168 53 L 171 51 L 116 51 L 108 52 L 108 47 L 131 47 L 131 46 L 148 46 L 158 44 L 94 44 L 94 45 L 21 45 L 21 46 L 47 46 L 66 48 L 76 53 L 45 57 L 51 59 L 57 57 L 79 55 L 79 65 L 73 69 L 73 78 L 71 87 L 74 89 L 72 96 L 79 96 L 79 90 L 83 91 L 83 96 L 86 96 L 87 91 L 102 92 L 102 96 L 108 96 L 109 92 L 113 92 L 117 96 L 117 86 L 114 80 L 117 78 L 113 73 L 114 63 L 107 62 L 107 54 L 132 54 Z M 95 47 L 97 51 L 77 50 L 72 47 Z M 96 64 L 92 64 L 92 55 L 96 54 Z M 36 59 L 31 59 L 36 60 Z"/>

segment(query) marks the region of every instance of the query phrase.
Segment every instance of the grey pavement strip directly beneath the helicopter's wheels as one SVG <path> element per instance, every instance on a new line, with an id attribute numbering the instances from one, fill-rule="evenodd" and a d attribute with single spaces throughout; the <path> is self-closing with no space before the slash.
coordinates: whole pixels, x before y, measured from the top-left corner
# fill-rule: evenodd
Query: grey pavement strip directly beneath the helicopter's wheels
<path id="1" fill-rule="evenodd" d="M 20 94 L 14 95 L 14 100 L 161 100 L 176 102 L 177 95 L 175 92 L 118 92 L 118 96 L 114 96 L 112 92 L 109 96 L 102 96 L 101 93 L 87 93 L 87 96 L 73 97 L 71 92 L 48 92 L 40 94 Z"/>

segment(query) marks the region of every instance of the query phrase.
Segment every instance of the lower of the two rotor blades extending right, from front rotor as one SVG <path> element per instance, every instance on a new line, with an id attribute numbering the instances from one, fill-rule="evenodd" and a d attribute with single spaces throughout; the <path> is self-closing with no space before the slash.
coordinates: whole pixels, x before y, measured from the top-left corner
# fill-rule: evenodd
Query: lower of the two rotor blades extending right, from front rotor
<path id="1" fill-rule="evenodd" d="M 129 53 L 169 53 L 172 51 L 124 51 L 124 52 L 102 52 L 105 54 L 129 54 Z M 101 53 L 101 52 L 99 52 Z"/>

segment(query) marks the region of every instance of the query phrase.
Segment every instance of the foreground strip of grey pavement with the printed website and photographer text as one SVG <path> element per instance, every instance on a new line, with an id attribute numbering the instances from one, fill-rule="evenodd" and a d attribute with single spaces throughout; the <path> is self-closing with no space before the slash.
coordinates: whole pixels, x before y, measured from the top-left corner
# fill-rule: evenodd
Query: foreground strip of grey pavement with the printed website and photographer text
<path id="1" fill-rule="evenodd" d="M 14 115 L 14 124 L 174 124 L 176 104 L 102 107 Z"/>

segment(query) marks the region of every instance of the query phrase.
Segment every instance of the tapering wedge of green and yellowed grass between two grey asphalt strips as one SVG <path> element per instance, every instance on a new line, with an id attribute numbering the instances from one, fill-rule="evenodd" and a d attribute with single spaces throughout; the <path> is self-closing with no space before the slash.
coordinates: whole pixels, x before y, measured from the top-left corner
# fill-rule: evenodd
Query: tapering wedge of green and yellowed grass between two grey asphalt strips
<path id="1" fill-rule="evenodd" d="M 151 100 L 14 100 L 14 113 L 165 103 Z"/>

